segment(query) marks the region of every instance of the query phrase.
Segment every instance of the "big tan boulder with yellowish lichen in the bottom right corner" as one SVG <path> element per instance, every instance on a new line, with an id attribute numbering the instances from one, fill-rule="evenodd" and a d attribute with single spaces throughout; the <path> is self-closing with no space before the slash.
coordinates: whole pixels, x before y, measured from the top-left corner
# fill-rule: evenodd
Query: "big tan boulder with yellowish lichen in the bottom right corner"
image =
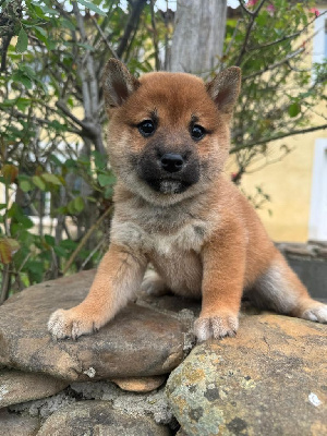
<path id="1" fill-rule="evenodd" d="M 167 396 L 187 436 L 327 434 L 327 326 L 263 313 L 197 346 Z M 295 429 L 295 431 L 294 431 Z"/>

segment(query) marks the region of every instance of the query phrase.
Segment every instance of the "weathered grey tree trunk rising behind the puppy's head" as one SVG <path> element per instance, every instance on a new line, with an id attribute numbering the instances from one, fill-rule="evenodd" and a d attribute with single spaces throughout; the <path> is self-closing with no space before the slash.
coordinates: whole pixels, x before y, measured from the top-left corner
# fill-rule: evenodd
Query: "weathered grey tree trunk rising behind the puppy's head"
<path id="1" fill-rule="evenodd" d="M 178 0 L 170 71 L 208 76 L 219 69 L 227 0 Z"/>

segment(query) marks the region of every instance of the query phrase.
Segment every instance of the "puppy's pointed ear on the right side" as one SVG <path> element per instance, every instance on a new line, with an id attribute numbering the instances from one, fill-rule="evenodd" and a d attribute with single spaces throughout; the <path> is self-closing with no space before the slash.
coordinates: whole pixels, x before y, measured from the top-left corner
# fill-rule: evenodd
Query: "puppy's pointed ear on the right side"
<path id="1" fill-rule="evenodd" d="M 221 71 L 206 88 L 218 110 L 230 118 L 241 89 L 241 69 L 231 66 Z"/>

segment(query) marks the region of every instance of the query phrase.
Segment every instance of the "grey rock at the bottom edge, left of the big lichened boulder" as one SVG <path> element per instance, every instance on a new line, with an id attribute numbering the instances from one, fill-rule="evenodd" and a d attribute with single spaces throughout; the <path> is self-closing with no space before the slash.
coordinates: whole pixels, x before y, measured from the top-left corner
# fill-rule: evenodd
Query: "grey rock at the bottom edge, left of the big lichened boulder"
<path id="1" fill-rule="evenodd" d="M 109 401 L 83 401 L 53 413 L 37 436 L 169 436 L 169 428 L 149 417 L 134 417 L 113 410 Z"/>

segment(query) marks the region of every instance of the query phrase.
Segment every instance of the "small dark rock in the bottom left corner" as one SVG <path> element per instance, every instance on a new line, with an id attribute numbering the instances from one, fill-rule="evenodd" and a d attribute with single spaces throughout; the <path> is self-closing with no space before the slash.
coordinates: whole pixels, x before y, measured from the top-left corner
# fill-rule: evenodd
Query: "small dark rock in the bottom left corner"
<path id="1" fill-rule="evenodd" d="M 39 429 L 37 417 L 20 416 L 0 409 L 1 436 L 35 436 Z"/>

